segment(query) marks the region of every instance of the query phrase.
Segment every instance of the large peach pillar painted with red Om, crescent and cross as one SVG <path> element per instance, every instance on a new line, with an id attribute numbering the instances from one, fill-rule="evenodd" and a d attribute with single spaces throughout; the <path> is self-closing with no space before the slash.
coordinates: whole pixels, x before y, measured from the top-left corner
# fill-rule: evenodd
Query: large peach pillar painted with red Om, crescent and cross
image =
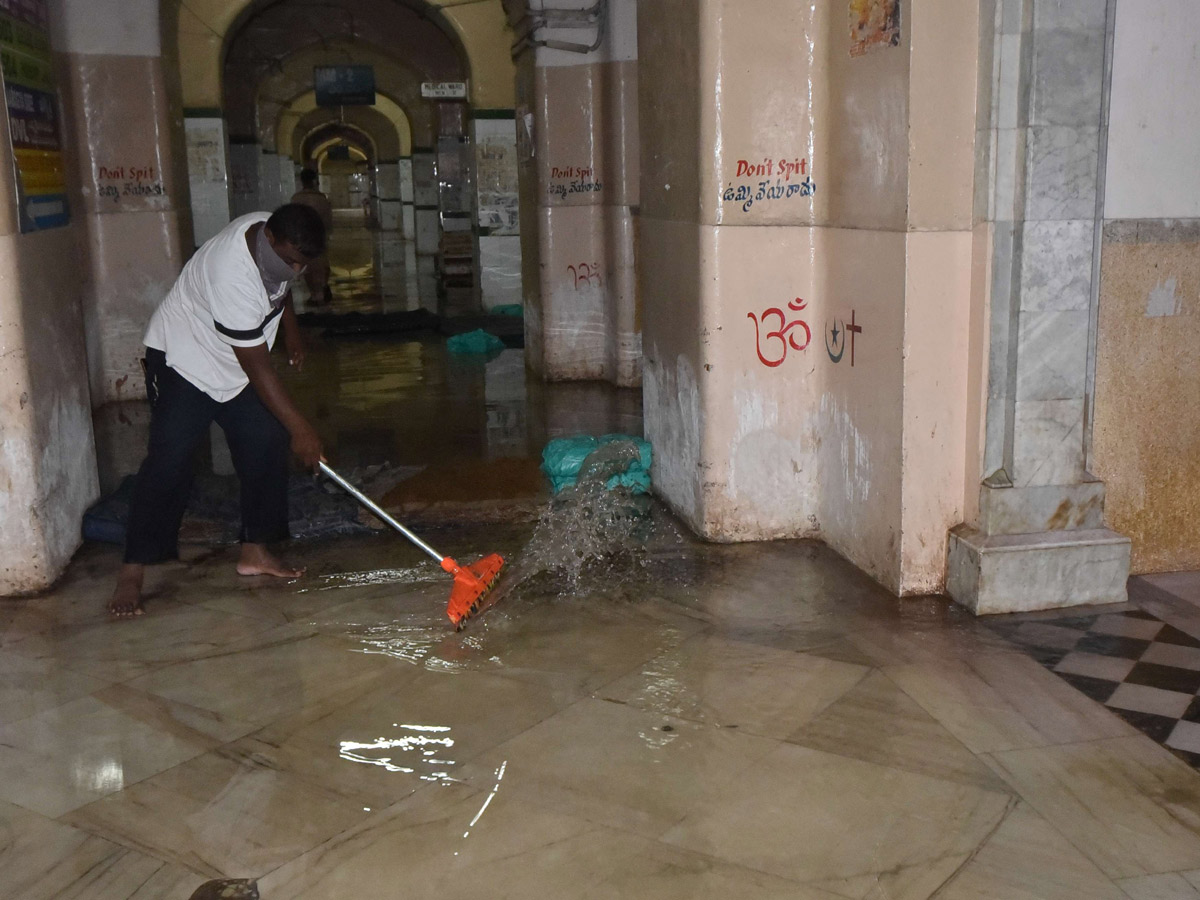
<path id="1" fill-rule="evenodd" d="M 926 593 L 967 481 L 978 18 L 863 46 L 852 6 L 638 10 L 647 433 L 701 534 Z"/>

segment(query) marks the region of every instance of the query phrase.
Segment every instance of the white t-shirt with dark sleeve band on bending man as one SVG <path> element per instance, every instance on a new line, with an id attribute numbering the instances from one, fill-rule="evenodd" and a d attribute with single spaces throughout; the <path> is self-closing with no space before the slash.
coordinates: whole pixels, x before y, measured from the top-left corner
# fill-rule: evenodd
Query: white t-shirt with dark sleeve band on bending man
<path id="1" fill-rule="evenodd" d="M 235 218 L 196 251 L 167 299 L 158 305 L 143 343 L 167 354 L 167 365 L 214 400 L 236 397 L 250 379 L 234 347 L 268 349 L 280 330 L 288 286 L 270 296 L 254 265 L 246 232 L 270 218 Z"/>

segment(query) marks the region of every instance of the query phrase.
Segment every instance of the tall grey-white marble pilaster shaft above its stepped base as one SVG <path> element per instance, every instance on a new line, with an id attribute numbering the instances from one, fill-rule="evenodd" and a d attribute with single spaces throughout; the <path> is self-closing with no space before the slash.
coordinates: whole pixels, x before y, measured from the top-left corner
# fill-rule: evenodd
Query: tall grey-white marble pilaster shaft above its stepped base
<path id="1" fill-rule="evenodd" d="M 988 473 L 1069 485 L 1084 410 L 1105 68 L 1105 0 L 997 0 L 978 214 L 992 224 Z M 990 156 L 990 158 L 989 158 Z"/>

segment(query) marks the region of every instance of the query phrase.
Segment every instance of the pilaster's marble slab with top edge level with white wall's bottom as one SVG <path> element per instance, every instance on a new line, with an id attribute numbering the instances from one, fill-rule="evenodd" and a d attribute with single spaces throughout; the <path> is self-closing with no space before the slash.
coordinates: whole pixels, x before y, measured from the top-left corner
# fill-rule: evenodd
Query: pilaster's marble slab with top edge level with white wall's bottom
<path id="1" fill-rule="evenodd" d="M 1021 230 L 1021 310 L 1087 310 L 1092 302 L 1091 218 L 1026 222 Z"/>

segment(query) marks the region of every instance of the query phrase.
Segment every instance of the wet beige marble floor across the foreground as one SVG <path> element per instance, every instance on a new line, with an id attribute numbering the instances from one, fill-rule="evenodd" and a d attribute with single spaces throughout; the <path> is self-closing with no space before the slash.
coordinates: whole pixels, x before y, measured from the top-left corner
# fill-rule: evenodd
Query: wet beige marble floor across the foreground
<path id="1" fill-rule="evenodd" d="M 392 535 L 193 548 L 120 623 L 86 546 L 0 604 L 0 895 L 1200 898 L 1200 775 L 992 626 L 655 522 L 462 632 Z"/>

